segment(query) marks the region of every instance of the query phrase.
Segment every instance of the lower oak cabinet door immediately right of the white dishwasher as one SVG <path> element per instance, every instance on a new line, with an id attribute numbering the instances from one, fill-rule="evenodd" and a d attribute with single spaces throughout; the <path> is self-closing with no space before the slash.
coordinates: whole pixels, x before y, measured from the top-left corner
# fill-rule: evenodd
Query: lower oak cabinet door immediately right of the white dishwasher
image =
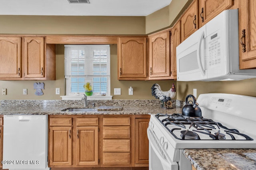
<path id="1" fill-rule="evenodd" d="M 72 165 L 72 127 L 50 127 L 50 165 Z"/>

